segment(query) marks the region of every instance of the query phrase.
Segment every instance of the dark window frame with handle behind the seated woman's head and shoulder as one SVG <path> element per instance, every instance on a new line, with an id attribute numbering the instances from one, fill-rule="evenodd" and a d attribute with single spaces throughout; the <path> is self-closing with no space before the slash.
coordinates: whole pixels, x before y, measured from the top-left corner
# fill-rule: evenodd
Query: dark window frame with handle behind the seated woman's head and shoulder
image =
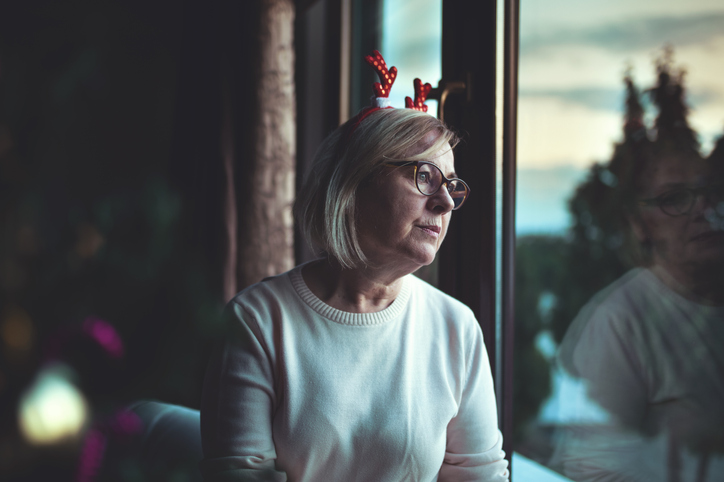
<path id="1" fill-rule="evenodd" d="M 361 102 L 356 86 L 369 82 L 363 78 L 367 74 L 357 72 L 351 52 L 360 48 L 356 44 L 379 45 L 379 27 L 372 23 L 379 22 L 381 10 L 380 0 L 302 3 L 295 33 L 298 183 L 313 156 L 308 146 L 319 145 Z M 463 142 L 455 153 L 456 170 L 461 178 L 470 180 L 474 194 L 466 200 L 465 209 L 455 213 L 440 249 L 439 287 L 468 305 L 480 323 L 496 386 L 503 449 L 510 461 L 520 2 L 482 2 L 472 12 L 470 4 L 462 0 L 442 0 L 442 5 L 443 74 L 429 98 L 439 100 L 443 89 L 455 83 L 466 86 L 451 90 L 440 108 L 445 121 L 462 134 Z M 322 12 L 309 15 L 313 8 Z M 315 45 L 324 45 L 324 51 L 315 50 Z M 322 90 L 329 95 L 320 98 L 317 92 L 316 100 L 305 96 L 315 86 L 317 91 L 324 86 Z M 343 96 L 352 99 L 349 107 Z M 296 239 L 297 262 L 311 259 L 301 238 L 297 235 Z"/>

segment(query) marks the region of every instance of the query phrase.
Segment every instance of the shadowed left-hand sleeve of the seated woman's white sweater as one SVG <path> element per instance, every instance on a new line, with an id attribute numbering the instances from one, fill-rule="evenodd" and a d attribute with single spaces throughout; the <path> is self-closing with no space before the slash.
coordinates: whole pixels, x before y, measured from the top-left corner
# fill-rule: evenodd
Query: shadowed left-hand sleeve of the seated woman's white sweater
<path id="1" fill-rule="evenodd" d="M 201 401 L 200 469 L 207 482 L 286 481 L 275 470 L 273 347 L 244 308 L 227 308 L 231 334 L 215 350 Z"/>

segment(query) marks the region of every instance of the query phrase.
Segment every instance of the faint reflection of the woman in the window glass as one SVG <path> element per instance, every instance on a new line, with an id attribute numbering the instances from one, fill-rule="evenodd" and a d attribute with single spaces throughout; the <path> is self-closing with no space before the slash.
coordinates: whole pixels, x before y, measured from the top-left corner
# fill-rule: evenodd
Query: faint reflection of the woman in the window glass
<path id="1" fill-rule="evenodd" d="M 654 157 L 628 217 L 650 260 L 571 325 L 563 366 L 604 409 L 564 450 L 574 480 L 724 480 L 721 176 L 698 156 Z"/>

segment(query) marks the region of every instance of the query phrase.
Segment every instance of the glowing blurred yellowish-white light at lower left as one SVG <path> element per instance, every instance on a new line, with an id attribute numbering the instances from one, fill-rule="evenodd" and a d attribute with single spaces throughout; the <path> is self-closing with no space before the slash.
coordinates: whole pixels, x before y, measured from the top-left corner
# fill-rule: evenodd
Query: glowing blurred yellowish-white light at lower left
<path id="1" fill-rule="evenodd" d="M 43 369 L 23 394 L 18 406 L 20 432 L 36 445 L 48 445 L 78 435 L 88 407 L 69 380 L 69 369 L 53 365 Z"/>

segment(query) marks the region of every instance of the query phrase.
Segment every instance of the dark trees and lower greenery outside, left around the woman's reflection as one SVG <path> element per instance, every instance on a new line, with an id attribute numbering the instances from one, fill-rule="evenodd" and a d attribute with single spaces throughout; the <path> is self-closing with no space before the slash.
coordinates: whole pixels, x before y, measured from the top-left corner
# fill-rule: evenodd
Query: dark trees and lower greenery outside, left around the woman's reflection
<path id="1" fill-rule="evenodd" d="M 647 125 L 640 90 L 626 75 L 623 138 L 614 146 L 612 157 L 591 166 L 586 179 L 576 187 L 569 201 L 573 223 L 568 235 L 519 240 L 515 419 L 521 442 L 523 432 L 530 428 L 549 395 L 548 387 L 541 386 L 541 380 L 547 384 L 548 377 L 539 373 L 544 364 L 543 357 L 534 353 L 536 338 L 547 330 L 560 342 L 578 311 L 598 291 L 630 267 L 649 262 L 646 246 L 634 239 L 626 219 L 639 170 L 648 160 L 656 162 L 666 155 L 701 156 L 697 133 L 687 120 L 683 70 L 674 66 L 670 50 L 655 68 L 656 83 L 644 92 L 656 110 L 653 123 Z M 724 140 L 719 140 L 709 159 L 724 168 Z M 549 310 L 541 310 L 546 300 Z M 535 437 L 528 430 L 524 440 L 535 445 Z M 536 450 L 540 447 L 531 447 L 530 455 L 536 457 Z"/>

